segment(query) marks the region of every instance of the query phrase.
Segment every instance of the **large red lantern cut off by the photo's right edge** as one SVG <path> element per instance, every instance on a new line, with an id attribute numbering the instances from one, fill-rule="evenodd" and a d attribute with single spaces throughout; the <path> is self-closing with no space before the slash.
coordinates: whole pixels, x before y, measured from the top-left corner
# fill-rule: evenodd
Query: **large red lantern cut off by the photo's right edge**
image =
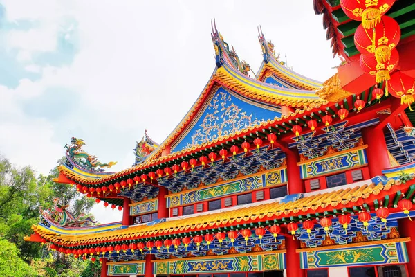
<path id="1" fill-rule="evenodd" d="M 392 96 L 400 98 L 400 104 L 408 104 L 412 111 L 411 104 L 414 102 L 415 79 L 398 71 L 391 76 L 387 89 Z"/>

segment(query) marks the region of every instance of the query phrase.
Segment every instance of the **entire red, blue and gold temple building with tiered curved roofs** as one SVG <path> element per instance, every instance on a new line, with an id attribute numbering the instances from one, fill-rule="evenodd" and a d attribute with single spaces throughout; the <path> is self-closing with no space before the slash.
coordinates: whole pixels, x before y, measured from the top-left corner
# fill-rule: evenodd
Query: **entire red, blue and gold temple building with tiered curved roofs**
<path id="1" fill-rule="evenodd" d="M 373 1 L 380 19 L 363 8 L 362 23 L 349 2 L 314 0 L 344 59 L 326 82 L 288 69 L 261 29 L 251 78 L 212 21 L 214 71 L 165 141 L 146 132 L 120 172 L 82 139 L 66 145 L 56 181 L 123 211 L 122 222 L 57 207 L 28 240 L 100 262 L 102 277 L 415 276 L 415 2 Z M 400 40 L 365 53 L 380 59 L 367 72 L 357 32 L 386 29 L 386 17 Z"/>

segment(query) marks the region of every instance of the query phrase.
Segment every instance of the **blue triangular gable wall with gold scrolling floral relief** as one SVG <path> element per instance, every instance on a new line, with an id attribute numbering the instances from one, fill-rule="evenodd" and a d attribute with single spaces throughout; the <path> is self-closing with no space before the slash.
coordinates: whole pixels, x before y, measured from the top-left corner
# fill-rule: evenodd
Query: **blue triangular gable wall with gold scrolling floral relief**
<path id="1" fill-rule="evenodd" d="M 223 87 L 217 89 L 207 102 L 194 125 L 189 128 L 190 131 L 172 148 L 172 152 L 191 148 L 281 116 L 279 108 L 241 98 Z"/>

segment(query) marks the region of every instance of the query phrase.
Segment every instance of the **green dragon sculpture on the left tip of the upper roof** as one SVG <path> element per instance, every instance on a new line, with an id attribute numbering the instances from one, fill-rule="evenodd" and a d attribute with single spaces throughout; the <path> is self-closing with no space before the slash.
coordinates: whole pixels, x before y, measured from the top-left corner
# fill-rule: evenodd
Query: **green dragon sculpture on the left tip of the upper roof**
<path id="1" fill-rule="evenodd" d="M 91 156 L 90 154 L 84 152 L 82 150 L 82 146 L 84 146 L 83 139 L 77 139 L 72 137 L 71 145 L 65 145 L 66 148 L 66 158 L 71 159 L 77 166 L 84 168 L 90 171 L 104 171 L 102 168 L 111 168 L 111 166 L 115 165 L 117 162 L 110 161 L 109 163 L 101 163 L 98 161 L 98 158 L 95 156 Z M 71 166 L 71 163 L 68 161 L 68 166 Z"/>

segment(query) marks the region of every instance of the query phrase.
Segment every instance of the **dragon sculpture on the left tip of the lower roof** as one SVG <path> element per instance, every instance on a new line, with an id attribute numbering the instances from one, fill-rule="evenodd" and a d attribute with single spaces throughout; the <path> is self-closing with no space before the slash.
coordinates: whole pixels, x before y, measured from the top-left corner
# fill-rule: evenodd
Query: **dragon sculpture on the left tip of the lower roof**
<path id="1" fill-rule="evenodd" d="M 93 216 L 85 217 L 82 213 L 78 217 L 75 217 L 73 213 L 67 210 L 69 205 L 59 205 L 59 198 L 53 200 L 53 207 L 44 210 L 39 208 L 40 214 L 48 220 L 58 224 L 62 227 L 85 227 L 95 224 Z"/>

